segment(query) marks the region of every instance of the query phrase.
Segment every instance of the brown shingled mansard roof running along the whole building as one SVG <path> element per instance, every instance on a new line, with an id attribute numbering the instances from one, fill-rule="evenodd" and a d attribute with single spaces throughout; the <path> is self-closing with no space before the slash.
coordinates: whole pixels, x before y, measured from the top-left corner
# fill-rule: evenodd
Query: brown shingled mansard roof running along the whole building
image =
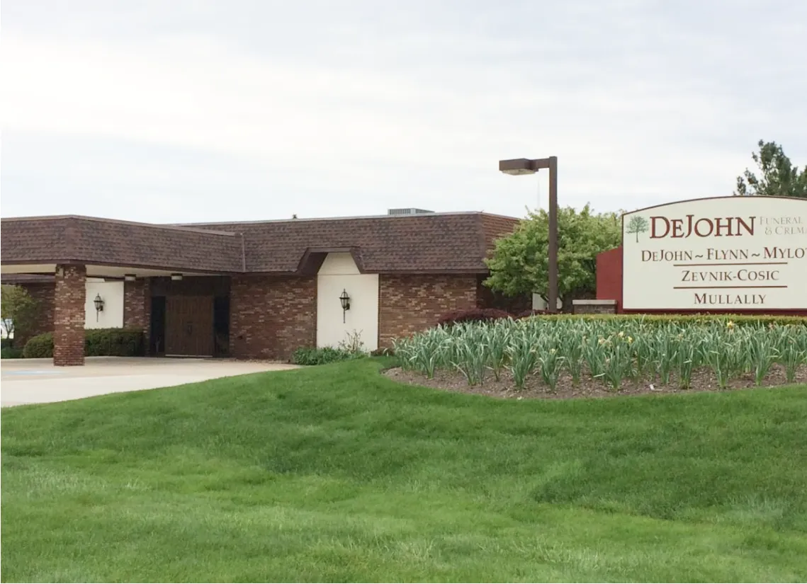
<path id="1" fill-rule="evenodd" d="M 368 273 L 485 273 L 493 240 L 516 223 L 482 213 L 182 226 L 86 217 L 3 219 L 2 263 L 306 273 L 325 252 L 350 251 Z"/>

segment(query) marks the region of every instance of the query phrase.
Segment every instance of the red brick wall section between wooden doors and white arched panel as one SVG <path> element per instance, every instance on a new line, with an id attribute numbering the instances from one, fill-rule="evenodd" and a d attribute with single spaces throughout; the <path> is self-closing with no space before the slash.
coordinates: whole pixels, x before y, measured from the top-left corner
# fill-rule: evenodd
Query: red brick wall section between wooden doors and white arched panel
<path id="1" fill-rule="evenodd" d="M 316 277 L 232 277 L 232 357 L 286 360 L 315 344 Z"/>

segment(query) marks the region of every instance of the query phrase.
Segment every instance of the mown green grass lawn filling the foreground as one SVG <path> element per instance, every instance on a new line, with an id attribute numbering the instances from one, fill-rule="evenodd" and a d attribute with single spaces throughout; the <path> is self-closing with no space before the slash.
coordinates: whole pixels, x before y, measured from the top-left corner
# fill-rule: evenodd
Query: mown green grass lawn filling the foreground
<path id="1" fill-rule="evenodd" d="M 2 411 L 2 580 L 807 579 L 807 387 L 497 401 L 378 361 Z"/>

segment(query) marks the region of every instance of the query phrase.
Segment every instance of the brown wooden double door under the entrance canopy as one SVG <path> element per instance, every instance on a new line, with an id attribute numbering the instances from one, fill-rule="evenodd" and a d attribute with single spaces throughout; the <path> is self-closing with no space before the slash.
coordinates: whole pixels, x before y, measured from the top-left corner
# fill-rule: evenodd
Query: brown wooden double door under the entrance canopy
<path id="1" fill-rule="evenodd" d="M 165 298 L 165 355 L 212 357 L 213 297 Z"/>

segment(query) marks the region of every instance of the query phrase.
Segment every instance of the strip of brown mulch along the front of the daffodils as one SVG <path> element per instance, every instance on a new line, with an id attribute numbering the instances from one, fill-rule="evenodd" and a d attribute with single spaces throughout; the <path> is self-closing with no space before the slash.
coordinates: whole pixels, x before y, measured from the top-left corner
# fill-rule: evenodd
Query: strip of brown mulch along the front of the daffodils
<path id="1" fill-rule="evenodd" d="M 562 375 L 558 380 L 555 390 L 541 382 L 540 378 L 533 376 L 528 378 L 523 390 L 516 390 L 512 382 L 512 376 L 507 371 L 500 374 L 500 379 L 495 380 L 490 373 L 485 378 L 483 385 L 469 386 L 462 373 L 454 371 L 437 371 L 433 379 L 426 378 L 422 373 L 414 371 L 403 371 L 398 367 L 387 369 L 384 372 L 388 378 L 396 382 L 408 383 L 410 385 L 433 387 L 437 390 L 456 391 L 463 394 L 488 395 L 493 398 L 532 398 L 532 399 L 572 399 L 572 398 L 607 398 L 617 395 L 641 395 L 641 394 L 687 394 L 696 391 L 721 391 L 717 386 L 717 380 L 710 369 L 697 369 L 692 373 L 692 383 L 688 390 L 680 390 L 675 374 L 672 375 L 670 383 L 662 386 L 658 380 L 654 382 L 642 381 L 638 385 L 626 380 L 618 391 L 612 390 L 604 385 L 600 380 L 592 379 L 583 375 L 579 385 L 575 386 L 568 374 Z M 798 369 L 795 383 L 807 383 L 807 366 Z M 784 368 L 780 365 L 773 365 L 771 371 L 762 382 L 762 387 L 777 387 L 787 385 L 784 375 Z M 740 378 L 732 379 L 725 390 L 744 390 L 756 387 L 754 376 L 743 375 Z"/>

